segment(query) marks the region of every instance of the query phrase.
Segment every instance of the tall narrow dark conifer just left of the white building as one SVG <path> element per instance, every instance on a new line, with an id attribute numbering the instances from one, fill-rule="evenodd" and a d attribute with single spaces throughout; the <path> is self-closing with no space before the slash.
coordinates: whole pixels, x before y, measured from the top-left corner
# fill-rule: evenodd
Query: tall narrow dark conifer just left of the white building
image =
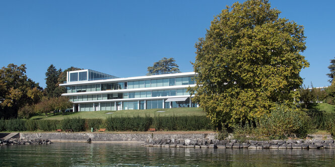
<path id="1" fill-rule="evenodd" d="M 58 97 L 61 95 L 59 92 L 55 91 L 57 88 L 57 79 L 60 73 L 61 69 L 57 70 L 52 64 L 48 67 L 45 73 L 46 88 L 44 89 L 44 92 L 48 98 Z"/>

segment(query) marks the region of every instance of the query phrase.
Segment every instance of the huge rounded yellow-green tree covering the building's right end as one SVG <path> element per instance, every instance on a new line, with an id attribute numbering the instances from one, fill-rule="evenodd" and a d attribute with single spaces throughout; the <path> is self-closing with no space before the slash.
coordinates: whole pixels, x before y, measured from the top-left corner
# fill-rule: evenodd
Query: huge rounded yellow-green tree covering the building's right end
<path id="1" fill-rule="evenodd" d="M 279 18 L 266 0 L 234 3 L 195 44 L 195 100 L 219 128 L 293 105 L 309 63 L 303 26 Z"/>

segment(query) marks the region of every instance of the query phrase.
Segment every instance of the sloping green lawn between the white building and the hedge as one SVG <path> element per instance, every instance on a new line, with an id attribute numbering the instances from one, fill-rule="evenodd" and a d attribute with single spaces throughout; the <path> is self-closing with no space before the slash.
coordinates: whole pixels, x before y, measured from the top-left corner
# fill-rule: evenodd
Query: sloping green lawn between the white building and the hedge
<path id="1" fill-rule="evenodd" d="M 157 112 L 164 111 L 164 112 Z M 110 113 L 110 114 L 107 114 Z M 109 116 L 119 116 L 119 117 L 133 117 L 133 116 L 200 116 L 206 115 L 205 112 L 201 108 L 169 108 L 169 109 L 147 109 L 147 110 L 120 110 L 120 111 L 83 111 L 83 112 L 68 112 L 65 115 L 61 115 L 61 113 L 56 113 L 53 115 L 52 113 L 48 114 L 46 117 L 44 114 L 33 116 L 31 119 L 64 119 L 64 118 L 103 118 L 106 119 Z"/>

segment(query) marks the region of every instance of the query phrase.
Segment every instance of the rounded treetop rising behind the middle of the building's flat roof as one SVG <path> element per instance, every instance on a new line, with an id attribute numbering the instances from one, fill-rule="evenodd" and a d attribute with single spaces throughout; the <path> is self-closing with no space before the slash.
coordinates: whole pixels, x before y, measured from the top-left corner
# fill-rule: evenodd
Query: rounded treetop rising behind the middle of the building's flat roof
<path id="1" fill-rule="evenodd" d="M 162 60 L 155 62 L 154 66 L 148 67 L 149 73 L 147 75 L 180 73 L 178 67 L 174 58 L 164 57 Z"/>

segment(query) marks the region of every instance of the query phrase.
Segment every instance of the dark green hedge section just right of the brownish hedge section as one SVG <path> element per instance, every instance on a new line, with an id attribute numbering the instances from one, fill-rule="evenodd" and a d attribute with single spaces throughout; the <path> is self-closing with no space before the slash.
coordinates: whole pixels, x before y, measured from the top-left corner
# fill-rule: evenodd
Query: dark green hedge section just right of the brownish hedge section
<path id="1" fill-rule="evenodd" d="M 152 118 L 146 117 L 108 117 L 106 127 L 109 131 L 147 131 Z"/>

